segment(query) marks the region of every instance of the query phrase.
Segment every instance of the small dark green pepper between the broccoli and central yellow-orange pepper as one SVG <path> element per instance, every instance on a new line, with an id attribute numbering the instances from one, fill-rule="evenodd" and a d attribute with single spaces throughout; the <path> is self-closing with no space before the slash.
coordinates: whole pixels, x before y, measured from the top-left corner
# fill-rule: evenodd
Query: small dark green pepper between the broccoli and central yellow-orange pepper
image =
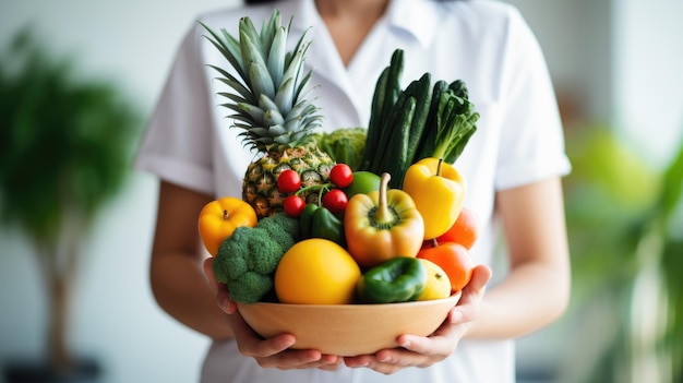
<path id="1" fill-rule="evenodd" d="M 324 206 L 309 203 L 299 217 L 301 238 L 324 238 L 346 247 L 344 222 Z"/>

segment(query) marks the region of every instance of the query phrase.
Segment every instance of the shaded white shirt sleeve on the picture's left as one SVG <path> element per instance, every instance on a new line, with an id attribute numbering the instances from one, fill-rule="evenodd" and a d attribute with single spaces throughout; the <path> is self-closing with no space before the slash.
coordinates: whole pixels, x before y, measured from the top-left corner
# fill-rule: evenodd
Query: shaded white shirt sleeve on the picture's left
<path id="1" fill-rule="evenodd" d="M 200 44 L 194 26 L 180 45 L 134 166 L 211 194 L 213 122 Z"/>

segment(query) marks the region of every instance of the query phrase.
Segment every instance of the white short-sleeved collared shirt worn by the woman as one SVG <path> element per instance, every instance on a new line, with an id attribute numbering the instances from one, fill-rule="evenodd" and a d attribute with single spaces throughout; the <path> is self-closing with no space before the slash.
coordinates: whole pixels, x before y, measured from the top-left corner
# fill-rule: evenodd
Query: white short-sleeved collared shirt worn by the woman
<path id="1" fill-rule="evenodd" d="M 493 200 L 496 190 L 564 175 L 558 107 L 546 62 L 528 25 L 511 5 L 496 1 L 393 0 L 345 68 L 312 0 L 277 2 L 283 21 L 295 15 L 292 36 L 311 27 L 307 65 L 314 70 L 325 130 L 366 127 L 380 72 L 396 48 L 405 51 L 404 86 L 431 72 L 432 79 L 463 79 L 480 112 L 478 131 L 456 166 L 468 180 L 465 205 L 484 222 L 472 249 L 477 262 L 491 264 L 495 248 Z M 273 5 L 223 10 L 203 15 L 213 28 L 235 34 L 249 15 L 260 26 Z M 218 106 L 220 83 L 207 63 L 228 63 L 193 25 L 183 40 L 136 158 L 140 169 L 180 185 L 213 194 L 241 195 L 241 179 L 253 154 L 229 129 Z M 494 270 L 496 273 L 502 271 Z M 483 382 L 514 381 L 512 340 L 460 343 L 455 354 L 428 369 L 385 376 L 370 370 L 264 370 L 237 351 L 233 342 L 212 347 L 202 382 Z"/>

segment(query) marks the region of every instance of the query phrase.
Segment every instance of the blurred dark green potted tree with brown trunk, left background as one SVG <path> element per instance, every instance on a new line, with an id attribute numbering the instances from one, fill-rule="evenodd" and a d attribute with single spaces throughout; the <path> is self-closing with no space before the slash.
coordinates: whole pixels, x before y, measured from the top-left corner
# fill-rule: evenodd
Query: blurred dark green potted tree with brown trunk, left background
<path id="1" fill-rule="evenodd" d="M 28 31 L 0 61 L 0 217 L 35 246 L 50 303 L 47 355 L 65 370 L 79 248 L 125 183 L 141 119 L 117 84 L 77 77 L 73 60 L 50 57 Z"/>

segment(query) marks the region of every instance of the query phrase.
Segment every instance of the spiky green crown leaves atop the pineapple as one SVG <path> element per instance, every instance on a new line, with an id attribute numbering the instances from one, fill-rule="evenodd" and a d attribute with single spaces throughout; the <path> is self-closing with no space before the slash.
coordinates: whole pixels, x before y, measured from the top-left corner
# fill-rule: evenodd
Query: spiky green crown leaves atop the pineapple
<path id="1" fill-rule="evenodd" d="M 220 106 L 233 111 L 228 117 L 233 119 L 233 128 L 243 130 L 239 136 L 244 146 L 259 152 L 296 146 L 322 125 L 320 109 L 311 101 L 314 87 L 307 87 L 313 73 L 303 73 L 310 47 L 304 40 L 308 29 L 287 51 L 291 20 L 283 26 L 277 10 L 264 21 L 261 31 L 249 17 L 240 19 L 239 39 L 226 29 L 218 33 L 200 24 L 208 32 L 205 37 L 237 73 L 209 65 L 220 74 L 217 80 L 232 91 L 218 93 L 228 99 Z"/>

